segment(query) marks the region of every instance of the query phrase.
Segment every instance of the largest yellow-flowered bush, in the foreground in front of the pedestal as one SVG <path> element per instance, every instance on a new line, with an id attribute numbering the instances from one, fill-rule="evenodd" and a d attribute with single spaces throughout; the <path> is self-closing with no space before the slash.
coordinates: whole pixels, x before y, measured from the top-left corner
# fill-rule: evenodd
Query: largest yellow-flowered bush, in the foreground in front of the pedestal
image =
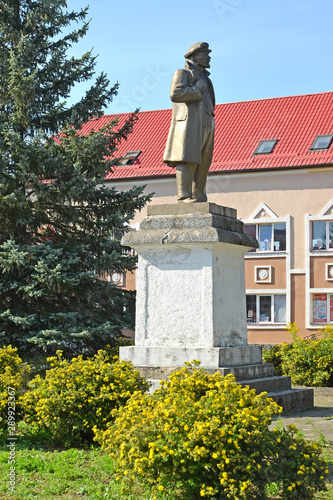
<path id="1" fill-rule="evenodd" d="M 275 482 L 284 499 L 312 498 L 324 488 L 319 448 L 292 429 L 271 431 L 281 408 L 266 396 L 190 365 L 152 395 L 134 394 L 95 439 L 118 462 L 119 479 L 139 478 L 155 495 L 265 498 Z"/>

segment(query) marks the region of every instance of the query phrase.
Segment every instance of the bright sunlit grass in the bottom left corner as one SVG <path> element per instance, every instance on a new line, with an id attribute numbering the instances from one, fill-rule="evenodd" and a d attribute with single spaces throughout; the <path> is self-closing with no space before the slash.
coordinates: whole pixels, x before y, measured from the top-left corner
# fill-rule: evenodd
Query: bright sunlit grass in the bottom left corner
<path id="1" fill-rule="evenodd" d="M 7 457 L 8 453 L 1 450 L 1 477 L 6 479 Z M 99 450 L 18 450 L 15 493 L 9 492 L 7 481 L 3 481 L 0 497 L 6 500 L 105 499 L 113 474 L 113 463 Z M 119 486 L 114 484 L 113 498 L 118 498 L 117 490 Z"/>

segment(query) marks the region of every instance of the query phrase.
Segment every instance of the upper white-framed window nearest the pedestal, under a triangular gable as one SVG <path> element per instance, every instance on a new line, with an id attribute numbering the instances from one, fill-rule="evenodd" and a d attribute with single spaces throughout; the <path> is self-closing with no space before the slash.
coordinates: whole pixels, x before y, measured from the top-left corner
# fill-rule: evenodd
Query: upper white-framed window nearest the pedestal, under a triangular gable
<path id="1" fill-rule="evenodd" d="M 286 223 L 244 224 L 244 232 L 259 241 L 257 252 L 286 251 Z"/>

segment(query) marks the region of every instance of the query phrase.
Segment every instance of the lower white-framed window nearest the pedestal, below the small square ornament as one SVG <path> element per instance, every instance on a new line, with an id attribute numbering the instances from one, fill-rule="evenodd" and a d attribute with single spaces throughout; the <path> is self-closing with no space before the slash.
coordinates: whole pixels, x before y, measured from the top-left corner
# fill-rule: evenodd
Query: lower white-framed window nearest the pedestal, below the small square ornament
<path id="1" fill-rule="evenodd" d="M 285 324 L 286 295 L 246 295 L 246 317 L 248 324 Z"/>

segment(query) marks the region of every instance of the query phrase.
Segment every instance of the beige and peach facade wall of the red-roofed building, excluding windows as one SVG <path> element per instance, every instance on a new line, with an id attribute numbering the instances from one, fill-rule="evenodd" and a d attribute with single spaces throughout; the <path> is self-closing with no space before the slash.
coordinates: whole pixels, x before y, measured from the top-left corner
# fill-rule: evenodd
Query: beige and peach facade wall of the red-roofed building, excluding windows
<path id="1" fill-rule="evenodd" d="M 137 181 L 144 185 L 145 193 L 155 192 L 152 204 L 177 203 L 175 178 Z M 117 182 L 119 190 L 132 187 L 129 182 Z M 333 167 L 325 169 L 300 169 L 293 171 L 233 173 L 210 175 L 207 181 L 208 201 L 237 209 L 238 217 L 248 220 L 264 203 L 278 218 L 290 216 L 290 254 L 287 258 L 247 258 L 245 260 L 246 287 L 256 289 L 288 289 L 290 294 L 290 321 L 296 321 L 303 335 L 315 333 L 307 329 L 306 307 L 310 288 L 333 288 L 325 280 L 325 264 L 333 263 L 332 257 L 310 257 L 307 260 L 308 241 L 306 214 L 317 216 L 333 200 Z M 146 209 L 133 220 L 136 224 L 146 215 Z M 333 218 L 333 216 L 332 216 Z M 258 222 L 268 222 L 270 214 Z M 272 283 L 255 283 L 255 266 L 270 265 Z M 295 272 L 293 272 L 295 271 Z M 307 278 L 308 277 L 308 278 Z M 310 278 L 311 277 L 311 278 Z M 307 281 L 308 279 L 308 281 Z M 126 281 L 130 284 L 130 281 Z M 308 284 L 307 284 L 308 283 Z M 134 288 L 134 280 L 131 288 Z M 126 286 L 127 287 L 127 286 Z M 277 328 L 249 328 L 250 343 L 279 343 L 290 337 Z"/>

